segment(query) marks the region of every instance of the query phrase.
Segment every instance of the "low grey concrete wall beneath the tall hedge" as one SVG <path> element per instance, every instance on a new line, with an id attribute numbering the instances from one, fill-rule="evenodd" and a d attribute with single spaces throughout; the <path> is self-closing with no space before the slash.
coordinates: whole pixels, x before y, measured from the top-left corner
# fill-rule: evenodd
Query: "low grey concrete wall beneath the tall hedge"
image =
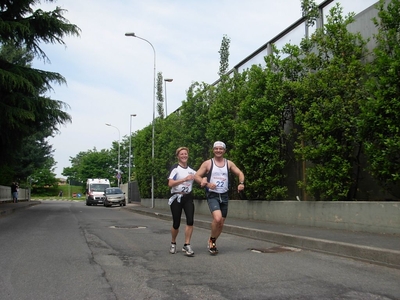
<path id="1" fill-rule="evenodd" d="M 141 205 L 152 207 L 151 199 Z M 206 200 L 195 200 L 195 214 L 210 214 Z M 169 211 L 167 199 L 154 208 Z M 229 200 L 228 218 L 315 226 L 371 233 L 400 234 L 400 202 L 324 202 Z"/>

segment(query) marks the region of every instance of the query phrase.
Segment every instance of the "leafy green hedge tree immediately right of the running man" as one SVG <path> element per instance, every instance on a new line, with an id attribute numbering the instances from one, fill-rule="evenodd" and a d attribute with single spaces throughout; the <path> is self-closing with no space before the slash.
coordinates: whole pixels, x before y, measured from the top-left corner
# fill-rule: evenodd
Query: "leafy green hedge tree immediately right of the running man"
<path id="1" fill-rule="evenodd" d="M 246 191 L 250 199 L 285 199 L 290 82 L 278 51 L 265 58 L 267 67 L 253 66 L 247 75 L 247 95 L 240 106 L 235 151 L 242 153 Z M 252 149 L 251 156 L 245 155 Z"/>

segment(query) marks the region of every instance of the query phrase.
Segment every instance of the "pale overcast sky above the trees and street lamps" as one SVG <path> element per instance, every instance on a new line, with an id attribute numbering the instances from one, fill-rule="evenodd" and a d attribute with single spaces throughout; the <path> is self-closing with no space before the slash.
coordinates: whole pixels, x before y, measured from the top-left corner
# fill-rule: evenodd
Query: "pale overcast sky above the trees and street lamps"
<path id="1" fill-rule="evenodd" d="M 341 3 L 350 0 L 340 1 Z M 43 1 L 42 1 L 43 2 Z M 316 1 L 321 3 L 323 1 Z M 351 0 L 367 6 L 373 0 Z M 168 114 L 181 106 L 193 82 L 218 79 L 219 49 L 230 40 L 229 69 L 301 17 L 300 0 L 58 0 L 64 17 L 82 30 L 62 45 L 43 45 L 51 63 L 33 67 L 58 72 L 66 86 L 54 86 L 52 99 L 67 103 L 72 124 L 49 139 L 62 177 L 70 157 L 93 148 L 110 149 L 113 141 L 151 124 L 153 66 L 167 83 Z M 345 6 L 345 4 L 342 4 Z M 164 87 L 164 86 L 163 86 Z M 111 123 L 114 127 L 106 126 Z"/>

